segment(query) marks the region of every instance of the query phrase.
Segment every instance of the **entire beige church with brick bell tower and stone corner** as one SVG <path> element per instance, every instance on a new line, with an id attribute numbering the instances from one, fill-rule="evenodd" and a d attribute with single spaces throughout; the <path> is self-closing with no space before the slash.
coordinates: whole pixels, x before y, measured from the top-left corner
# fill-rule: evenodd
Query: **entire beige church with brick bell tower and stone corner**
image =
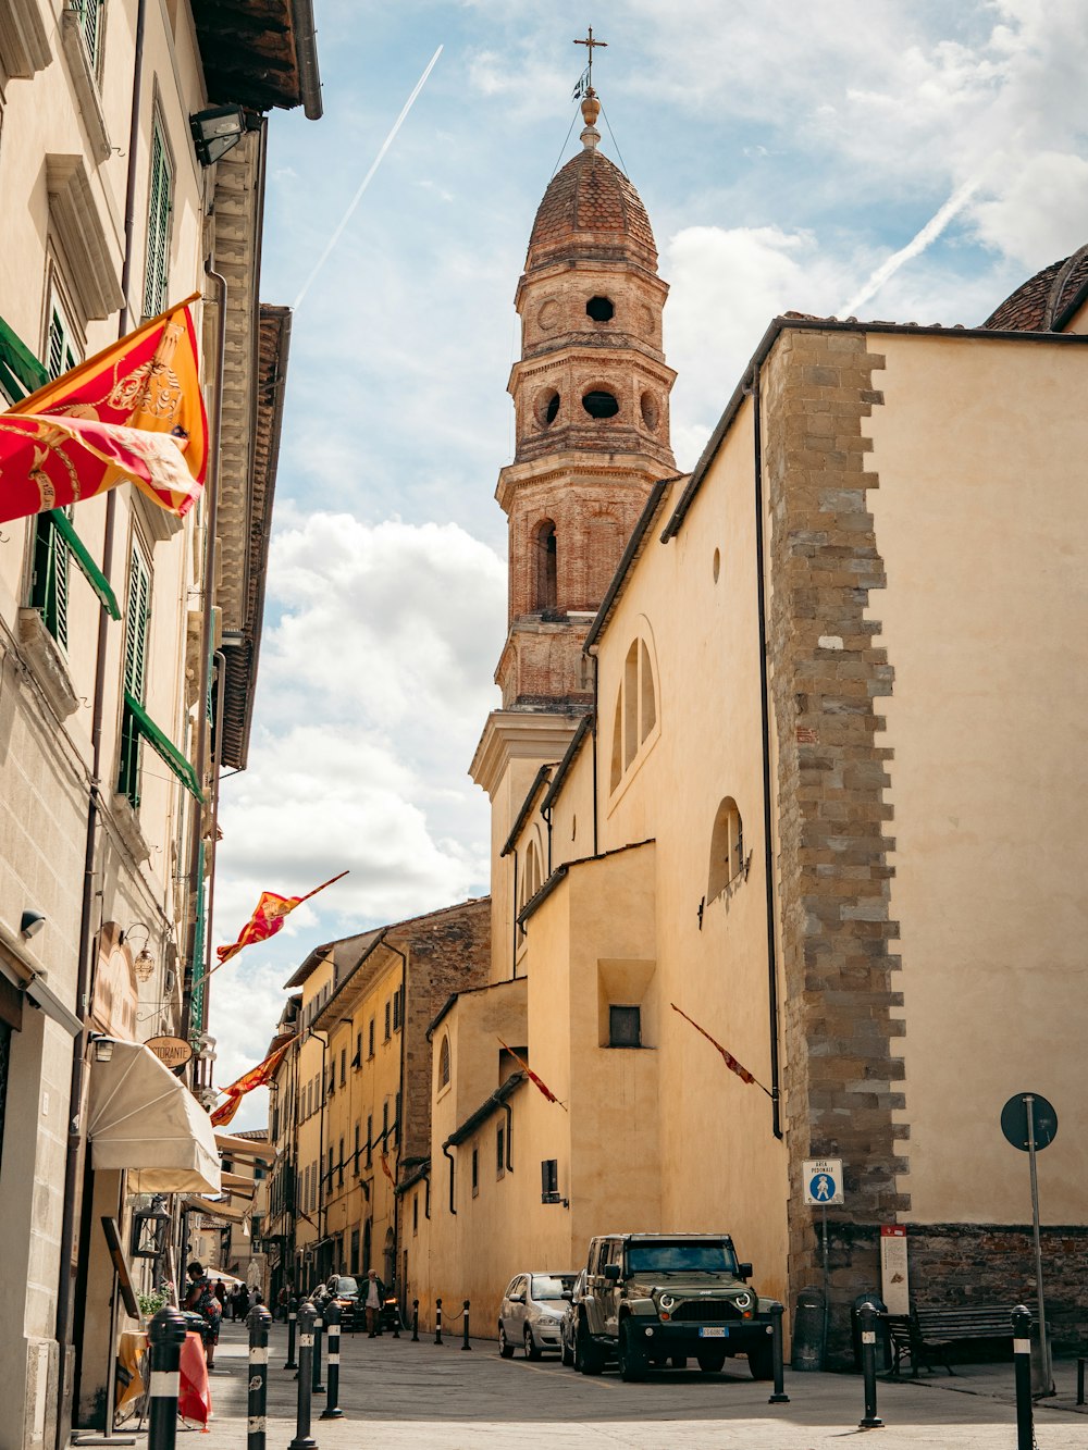
<path id="1" fill-rule="evenodd" d="M 825 1285 L 831 1363 L 863 1290 L 1033 1302 L 1033 1092 L 1081 1338 L 1084 260 L 976 329 L 776 318 L 677 477 L 653 232 L 585 117 L 516 293 L 492 969 L 431 1024 L 412 1295 L 493 1334 L 514 1273 L 675 1230 Z"/>

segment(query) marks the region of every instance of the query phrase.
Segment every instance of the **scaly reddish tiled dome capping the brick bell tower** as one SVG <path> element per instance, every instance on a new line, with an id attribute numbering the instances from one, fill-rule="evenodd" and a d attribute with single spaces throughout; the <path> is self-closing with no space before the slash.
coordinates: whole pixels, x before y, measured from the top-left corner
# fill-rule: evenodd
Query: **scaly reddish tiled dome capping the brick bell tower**
<path id="1" fill-rule="evenodd" d="M 532 223 L 525 270 L 572 251 L 657 270 L 657 246 L 643 199 L 619 167 L 590 145 L 551 178 Z"/>

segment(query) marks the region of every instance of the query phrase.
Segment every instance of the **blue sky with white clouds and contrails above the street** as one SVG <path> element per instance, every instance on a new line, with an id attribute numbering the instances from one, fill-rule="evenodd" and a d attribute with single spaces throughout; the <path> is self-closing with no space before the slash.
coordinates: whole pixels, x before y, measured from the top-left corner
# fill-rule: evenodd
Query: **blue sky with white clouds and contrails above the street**
<path id="1" fill-rule="evenodd" d="M 1088 241 L 1084 0 L 313 9 L 325 115 L 270 120 L 261 297 L 306 290 L 213 937 L 234 940 L 261 890 L 350 874 L 216 974 L 219 1085 L 264 1056 L 313 947 L 487 892 L 467 768 L 505 638 L 514 293 L 579 149 L 588 25 L 606 42 L 601 149 L 638 188 L 670 284 L 680 468 L 775 315 L 978 325 Z M 234 1127 L 264 1121 L 255 1092 Z"/>

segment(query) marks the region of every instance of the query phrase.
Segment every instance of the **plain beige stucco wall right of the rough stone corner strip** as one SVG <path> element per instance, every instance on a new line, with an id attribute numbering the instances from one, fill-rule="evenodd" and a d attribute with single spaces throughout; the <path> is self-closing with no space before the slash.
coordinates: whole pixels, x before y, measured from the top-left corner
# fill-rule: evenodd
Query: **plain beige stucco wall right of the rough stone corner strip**
<path id="1" fill-rule="evenodd" d="M 883 336 L 879 351 L 901 1189 L 915 1222 L 1030 1221 L 1026 1156 L 998 1115 L 1034 1090 L 1060 1124 L 1039 1157 L 1044 1219 L 1082 1224 L 1088 348 Z"/>

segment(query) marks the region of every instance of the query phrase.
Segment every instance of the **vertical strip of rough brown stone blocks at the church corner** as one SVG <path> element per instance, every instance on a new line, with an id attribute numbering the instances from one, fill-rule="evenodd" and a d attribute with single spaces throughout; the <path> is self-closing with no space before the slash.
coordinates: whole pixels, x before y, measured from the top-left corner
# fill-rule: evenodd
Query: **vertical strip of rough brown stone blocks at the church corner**
<path id="1" fill-rule="evenodd" d="M 767 648 L 778 731 L 779 882 L 785 977 L 785 1131 L 791 1172 L 791 1298 L 820 1283 L 815 1211 L 801 1163 L 841 1157 L 847 1206 L 833 1209 L 831 1362 L 849 1357 L 847 1305 L 878 1282 L 881 1222 L 910 1209 L 892 1122 L 904 1108 L 895 1040 L 883 800 L 891 751 L 876 700 L 892 670 L 867 618 L 885 584 L 866 492 L 863 419 L 883 358 L 859 332 L 783 329 L 763 367 L 765 503 L 770 515 Z M 836 1221 L 841 1228 L 836 1228 Z M 847 1227 L 849 1225 L 849 1227 Z"/>

